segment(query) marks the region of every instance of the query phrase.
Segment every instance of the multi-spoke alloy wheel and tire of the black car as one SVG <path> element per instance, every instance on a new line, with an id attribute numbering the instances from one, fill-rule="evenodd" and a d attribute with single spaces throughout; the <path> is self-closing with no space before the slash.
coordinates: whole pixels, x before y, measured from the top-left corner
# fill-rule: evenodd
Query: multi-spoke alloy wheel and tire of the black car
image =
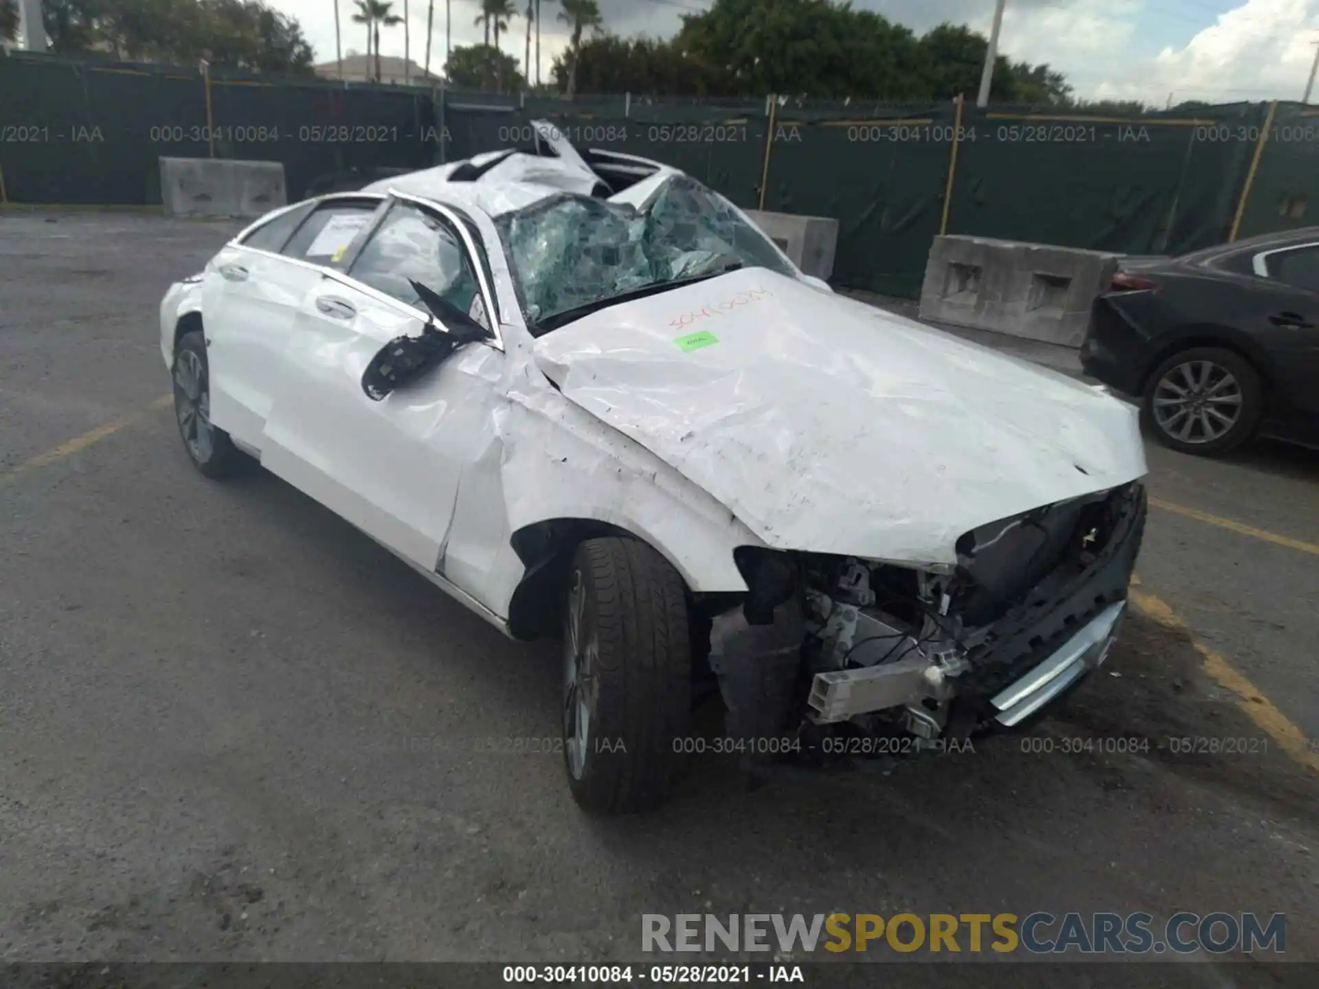
<path id="1" fill-rule="evenodd" d="M 1145 386 L 1142 413 L 1161 443 L 1213 456 L 1254 435 L 1264 413 L 1258 372 L 1221 347 L 1195 347 L 1167 357 Z"/>

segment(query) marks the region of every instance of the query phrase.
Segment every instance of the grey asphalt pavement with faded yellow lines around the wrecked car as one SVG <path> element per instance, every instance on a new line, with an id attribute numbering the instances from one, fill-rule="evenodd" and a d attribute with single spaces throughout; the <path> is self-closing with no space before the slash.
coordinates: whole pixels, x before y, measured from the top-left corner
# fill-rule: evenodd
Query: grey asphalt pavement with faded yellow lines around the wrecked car
<path id="1" fill-rule="evenodd" d="M 592 820 L 504 742 L 557 734 L 554 644 L 189 464 L 157 303 L 233 229 L 0 214 L 0 961 L 641 961 L 642 914 L 1223 910 L 1285 913 L 1285 956 L 1138 968 L 1315 984 L 1319 455 L 1150 446 L 1140 607 L 1026 734 L 754 789 L 694 757 L 670 806 Z"/>

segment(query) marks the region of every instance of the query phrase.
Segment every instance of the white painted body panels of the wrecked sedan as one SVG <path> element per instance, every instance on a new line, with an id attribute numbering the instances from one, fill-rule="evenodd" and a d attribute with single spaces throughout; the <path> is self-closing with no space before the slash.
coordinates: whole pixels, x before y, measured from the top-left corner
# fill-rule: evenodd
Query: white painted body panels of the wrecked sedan
<path id="1" fill-rule="evenodd" d="M 608 522 L 692 591 L 743 591 L 737 546 L 948 563 L 969 529 L 1145 472 L 1117 400 L 805 276 L 747 268 L 533 339 L 492 218 L 582 173 L 510 161 L 518 181 L 450 183 L 455 164 L 380 183 L 467 212 L 499 309 L 488 344 L 384 401 L 363 371 L 427 314 L 343 273 L 231 244 L 161 305 L 168 364 L 202 311 L 215 425 L 495 620 L 524 574 L 513 533 L 547 520 Z M 706 345 L 679 345 L 694 334 Z"/>

